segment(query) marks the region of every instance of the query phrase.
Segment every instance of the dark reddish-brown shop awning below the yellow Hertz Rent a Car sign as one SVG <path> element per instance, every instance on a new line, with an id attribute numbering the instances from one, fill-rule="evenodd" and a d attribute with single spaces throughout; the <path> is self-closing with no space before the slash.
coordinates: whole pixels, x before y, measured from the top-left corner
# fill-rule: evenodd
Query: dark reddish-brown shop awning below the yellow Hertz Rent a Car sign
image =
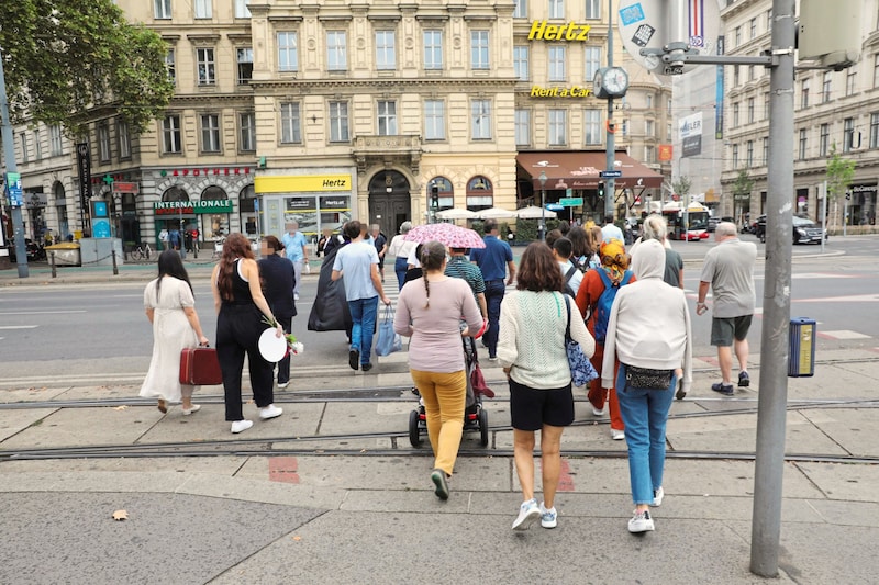
<path id="1" fill-rule="evenodd" d="M 535 189 L 541 188 L 541 171 L 546 173 L 546 189 L 596 189 L 603 180 L 599 172 L 608 168 L 603 151 L 543 150 L 521 153 L 516 162 L 531 176 Z M 661 188 L 663 176 L 648 169 L 625 153 L 614 156 L 614 170 L 622 177 L 614 179 L 616 189 Z"/>

